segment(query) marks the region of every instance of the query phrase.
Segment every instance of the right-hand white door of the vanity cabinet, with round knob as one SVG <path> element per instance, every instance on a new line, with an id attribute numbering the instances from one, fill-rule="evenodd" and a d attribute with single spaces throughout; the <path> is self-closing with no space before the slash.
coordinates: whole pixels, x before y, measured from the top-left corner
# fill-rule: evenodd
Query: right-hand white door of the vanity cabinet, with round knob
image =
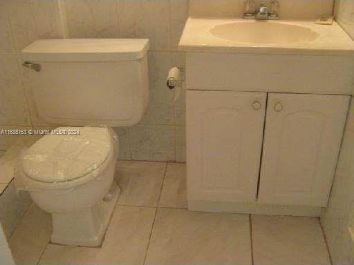
<path id="1" fill-rule="evenodd" d="M 349 100 L 269 93 L 260 202 L 326 206 Z"/>

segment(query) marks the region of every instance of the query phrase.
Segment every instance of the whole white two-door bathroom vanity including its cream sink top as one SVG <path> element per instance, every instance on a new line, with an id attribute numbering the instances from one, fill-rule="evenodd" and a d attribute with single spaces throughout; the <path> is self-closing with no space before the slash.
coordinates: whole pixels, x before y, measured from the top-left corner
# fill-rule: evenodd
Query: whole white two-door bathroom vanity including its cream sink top
<path id="1" fill-rule="evenodd" d="M 353 95 L 353 39 L 335 21 L 189 17 L 178 50 L 189 210 L 321 215 Z"/>

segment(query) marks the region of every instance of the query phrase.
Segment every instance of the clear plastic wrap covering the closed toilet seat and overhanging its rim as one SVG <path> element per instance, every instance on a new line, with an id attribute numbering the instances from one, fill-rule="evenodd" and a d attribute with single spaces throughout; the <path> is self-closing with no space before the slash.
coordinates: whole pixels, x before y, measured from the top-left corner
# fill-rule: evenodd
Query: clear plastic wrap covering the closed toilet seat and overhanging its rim
<path id="1" fill-rule="evenodd" d="M 17 190 L 66 190 L 97 178 L 118 157 L 118 136 L 107 126 L 60 127 L 23 150 Z"/>

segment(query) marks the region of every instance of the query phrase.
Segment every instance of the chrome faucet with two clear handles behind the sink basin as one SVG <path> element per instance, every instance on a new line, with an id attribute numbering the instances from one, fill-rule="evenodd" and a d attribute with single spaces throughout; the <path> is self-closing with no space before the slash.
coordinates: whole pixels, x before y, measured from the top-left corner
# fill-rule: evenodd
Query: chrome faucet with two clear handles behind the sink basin
<path id="1" fill-rule="evenodd" d="M 243 19 L 279 19 L 278 10 L 279 2 L 277 0 L 270 1 L 269 7 L 264 3 L 261 3 L 258 11 L 256 11 L 254 0 L 247 0 L 245 5 L 245 12 L 243 12 Z"/>

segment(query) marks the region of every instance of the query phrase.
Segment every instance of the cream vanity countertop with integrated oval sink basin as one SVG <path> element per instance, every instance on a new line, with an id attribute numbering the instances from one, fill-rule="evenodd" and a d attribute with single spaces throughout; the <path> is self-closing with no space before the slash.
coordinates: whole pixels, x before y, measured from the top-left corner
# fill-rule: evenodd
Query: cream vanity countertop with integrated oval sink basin
<path id="1" fill-rule="evenodd" d="M 189 18 L 178 45 L 185 52 L 354 55 L 354 42 L 338 25 L 315 21 Z"/>

